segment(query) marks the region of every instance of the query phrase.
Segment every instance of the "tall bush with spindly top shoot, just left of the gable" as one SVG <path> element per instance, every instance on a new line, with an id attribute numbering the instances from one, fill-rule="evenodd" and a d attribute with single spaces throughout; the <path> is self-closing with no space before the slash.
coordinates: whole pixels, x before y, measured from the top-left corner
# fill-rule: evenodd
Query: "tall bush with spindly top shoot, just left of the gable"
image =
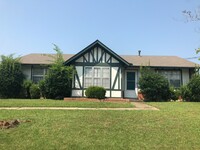
<path id="1" fill-rule="evenodd" d="M 72 77 L 74 69 L 72 66 L 65 66 L 62 51 L 54 44 L 56 51 L 52 65 L 49 67 L 44 80 L 45 97 L 51 99 L 63 99 L 71 96 Z"/>

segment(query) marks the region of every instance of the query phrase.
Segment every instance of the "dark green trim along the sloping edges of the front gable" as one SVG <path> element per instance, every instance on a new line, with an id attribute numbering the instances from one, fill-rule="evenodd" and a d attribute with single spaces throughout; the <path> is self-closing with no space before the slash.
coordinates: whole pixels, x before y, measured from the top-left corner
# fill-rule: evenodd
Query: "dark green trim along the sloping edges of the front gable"
<path id="1" fill-rule="evenodd" d="M 72 63 L 73 61 L 75 61 L 79 57 L 83 56 L 85 53 L 87 53 L 91 48 L 93 48 L 95 46 L 102 47 L 107 53 L 109 53 L 112 56 L 114 56 L 117 60 L 119 60 L 120 62 L 122 62 L 126 66 L 130 66 L 131 65 L 125 59 L 123 59 L 118 54 L 116 54 L 115 52 L 113 52 L 110 48 L 108 48 L 106 45 L 104 45 L 103 43 L 101 43 L 99 40 L 94 41 L 92 44 L 90 44 L 89 46 L 87 46 L 86 48 L 84 48 L 82 51 L 80 51 L 76 55 L 72 56 L 70 59 L 66 60 L 65 64 L 67 65 L 67 64 Z"/>

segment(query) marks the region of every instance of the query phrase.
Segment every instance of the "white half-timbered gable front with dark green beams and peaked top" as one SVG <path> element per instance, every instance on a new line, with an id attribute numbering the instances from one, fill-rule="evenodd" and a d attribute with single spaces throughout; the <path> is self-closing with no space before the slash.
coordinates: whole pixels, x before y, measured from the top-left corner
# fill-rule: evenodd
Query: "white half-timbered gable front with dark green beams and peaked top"
<path id="1" fill-rule="evenodd" d="M 130 64 L 100 41 L 95 41 L 65 64 L 74 65 L 76 69 L 72 96 L 85 96 L 89 86 L 104 87 L 107 97 L 122 96 L 123 68 Z"/>

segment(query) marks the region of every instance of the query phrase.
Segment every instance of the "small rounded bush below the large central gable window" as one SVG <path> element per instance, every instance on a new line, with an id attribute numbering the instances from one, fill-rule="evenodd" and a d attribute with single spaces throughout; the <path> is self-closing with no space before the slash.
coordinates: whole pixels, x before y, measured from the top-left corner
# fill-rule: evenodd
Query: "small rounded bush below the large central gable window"
<path id="1" fill-rule="evenodd" d="M 90 86 L 86 89 L 85 95 L 88 98 L 104 99 L 106 90 L 99 86 Z"/>

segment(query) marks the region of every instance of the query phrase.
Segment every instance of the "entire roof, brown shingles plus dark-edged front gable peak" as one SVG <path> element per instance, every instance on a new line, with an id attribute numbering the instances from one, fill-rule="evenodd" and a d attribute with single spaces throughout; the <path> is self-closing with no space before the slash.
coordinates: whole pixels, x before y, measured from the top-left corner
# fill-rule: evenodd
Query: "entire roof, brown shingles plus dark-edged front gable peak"
<path id="1" fill-rule="evenodd" d="M 151 66 L 151 67 L 181 67 L 181 68 L 194 68 L 195 63 L 177 56 L 136 56 L 136 55 L 118 55 L 113 52 L 106 45 L 96 40 L 82 51 L 77 54 L 63 54 L 65 64 L 70 64 L 91 48 L 100 46 L 107 53 L 111 54 L 117 60 L 125 64 L 126 66 Z M 33 65 L 49 65 L 53 62 L 53 58 L 50 56 L 55 54 L 29 54 L 21 57 L 22 64 L 33 64 Z"/>

